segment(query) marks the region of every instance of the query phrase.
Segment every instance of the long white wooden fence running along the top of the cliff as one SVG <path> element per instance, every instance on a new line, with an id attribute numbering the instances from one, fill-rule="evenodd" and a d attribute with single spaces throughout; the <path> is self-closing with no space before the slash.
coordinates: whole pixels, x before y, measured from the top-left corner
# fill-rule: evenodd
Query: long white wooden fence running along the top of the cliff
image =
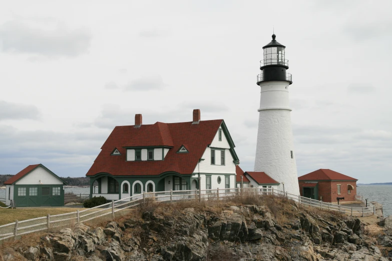
<path id="1" fill-rule="evenodd" d="M 260 195 L 285 196 L 294 201 L 319 207 L 331 211 L 338 211 L 351 216 L 365 216 L 375 213 L 374 207 L 347 207 L 336 205 L 328 202 L 293 195 L 287 192 L 276 190 L 273 188 L 224 188 L 224 189 L 201 189 L 201 190 L 179 190 L 179 191 L 159 191 L 159 192 L 143 192 L 120 200 L 112 200 L 112 202 L 95 206 L 89 209 L 77 210 L 75 212 L 47 215 L 33 219 L 18 221 L 0 226 L 0 240 L 17 237 L 20 235 L 38 232 L 46 229 L 64 227 L 72 223 L 86 222 L 101 217 L 115 218 L 116 213 L 126 214 L 126 210 L 146 203 L 146 200 L 154 199 L 159 202 L 175 202 L 182 200 L 220 200 L 224 198 L 243 196 L 249 193 Z M 191 205 L 190 205 L 191 206 Z M 12 210 L 9 210 L 12 211 Z"/>

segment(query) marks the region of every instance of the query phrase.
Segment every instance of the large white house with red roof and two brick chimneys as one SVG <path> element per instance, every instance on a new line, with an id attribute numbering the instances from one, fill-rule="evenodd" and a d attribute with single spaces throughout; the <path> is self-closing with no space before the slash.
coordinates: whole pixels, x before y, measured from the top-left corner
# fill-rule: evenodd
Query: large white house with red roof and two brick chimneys
<path id="1" fill-rule="evenodd" d="M 146 192 L 234 188 L 234 142 L 223 119 L 116 126 L 87 176 L 91 196 L 117 200 Z M 199 183 L 200 177 L 200 183 Z M 96 187 L 97 186 L 97 187 Z M 94 188 L 94 189 L 93 189 Z"/>

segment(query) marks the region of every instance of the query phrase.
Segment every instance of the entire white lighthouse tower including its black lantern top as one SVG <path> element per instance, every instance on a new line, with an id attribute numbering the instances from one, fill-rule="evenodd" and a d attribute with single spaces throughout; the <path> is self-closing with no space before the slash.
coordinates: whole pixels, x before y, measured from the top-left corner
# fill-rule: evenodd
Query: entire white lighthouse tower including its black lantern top
<path id="1" fill-rule="evenodd" d="M 297 165 L 291 129 L 288 89 L 292 83 L 287 73 L 286 46 L 275 40 L 263 47 L 260 61 L 259 126 L 254 171 L 262 171 L 280 182 L 279 190 L 299 195 Z"/>

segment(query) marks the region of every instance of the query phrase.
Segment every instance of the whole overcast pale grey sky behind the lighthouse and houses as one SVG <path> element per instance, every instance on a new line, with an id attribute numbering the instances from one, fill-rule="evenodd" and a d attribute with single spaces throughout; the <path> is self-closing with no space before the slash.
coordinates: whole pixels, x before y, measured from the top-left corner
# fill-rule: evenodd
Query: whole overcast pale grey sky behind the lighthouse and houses
<path id="1" fill-rule="evenodd" d="M 1 1 L 0 174 L 84 176 L 116 125 L 223 118 L 253 170 L 262 46 L 286 46 L 298 175 L 392 181 L 392 1 Z"/>

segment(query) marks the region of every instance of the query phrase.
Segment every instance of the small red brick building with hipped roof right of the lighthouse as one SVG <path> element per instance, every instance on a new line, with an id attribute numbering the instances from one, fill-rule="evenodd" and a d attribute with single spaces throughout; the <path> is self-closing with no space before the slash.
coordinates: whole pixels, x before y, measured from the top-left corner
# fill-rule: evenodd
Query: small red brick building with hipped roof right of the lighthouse
<path id="1" fill-rule="evenodd" d="M 356 181 L 353 177 L 330 169 L 318 169 L 298 177 L 301 196 L 337 202 L 336 197 L 344 197 L 342 203 L 355 201 Z"/>

